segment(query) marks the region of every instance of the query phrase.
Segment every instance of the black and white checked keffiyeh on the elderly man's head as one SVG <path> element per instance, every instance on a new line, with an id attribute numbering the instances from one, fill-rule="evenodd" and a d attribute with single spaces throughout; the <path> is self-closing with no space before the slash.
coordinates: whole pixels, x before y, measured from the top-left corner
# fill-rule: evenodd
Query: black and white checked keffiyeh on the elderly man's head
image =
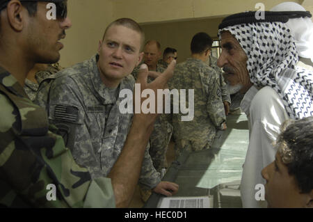
<path id="1" fill-rule="evenodd" d="M 313 116 L 313 75 L 296 67 L 296 45 L 284 23 L 236 24 L 220 29 L 219 35 L 221 31 L 230 31 L 246 52 L 253 84 L 273 88 L 290 118 Z"/>

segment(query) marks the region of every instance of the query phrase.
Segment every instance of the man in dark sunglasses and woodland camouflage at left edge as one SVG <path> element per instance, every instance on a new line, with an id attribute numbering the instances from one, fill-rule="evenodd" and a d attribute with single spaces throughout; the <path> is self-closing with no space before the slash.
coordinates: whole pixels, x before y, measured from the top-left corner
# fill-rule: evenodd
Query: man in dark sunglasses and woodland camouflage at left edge
<path id="1" fill-rule="evenodd" d="M 33 2 L 22 3 L 23 6 L 19 1 L 0 1 L 1 15 L 5 13 L 10 18 L 9 21 L 1 19 L 0 66 L 3 68 L 0 67 L 0 206 L 114 207 L 115 198 L 111 179 L 99 177 L 91 180 L 86 168 L 81 168 L 74 162 L 61 136 L 54 134 L 56 128 L 48 124 L 45 110 L 33 104 L 24 92 L 24 79 L 29 70 L 22 65 L 16 69 L 16 64 L 27 64 L 32 67 L 39 62 L 35 61 L 40 56 L 38 51 L 28 48 L 28 60 L 24 61 L 25 54 L 16 54 L 17 51 L 15 54 L 8 54 L 6 50 L 8 45 L 10 49 L 12 45 L 16 49 L 22 49 L 22 45 L 16 42 L 18 42 L 17 38 L 20 41 L 24 36 L 11 28 L 17 28 L 16 23 L 13 24 L 13 21 L 17 22 L 15 17 L 22 19 L 25 32 L 29 31 L 30 24 L 24 26 L 24 22 L 26 23 L 29 17 L 34 17 L 37 21 L 45 21 L 46 26 L 51 30 L 48 30 L 51 40 L 57 39 L 58 33 L 71 26 L 70 20 L 63 17 L 63 19 L 48 21 L 45 17 L 47 3 L 38 2 L 38 6 L 37 3 L 33 5 Z M 37 6 L 37 15 L 24 13 L 25 10 L 29 12 L 34 6 Z M 20 9 L 19 13 L 23 13 L 23 16 L 13 14 L 17 9 Z M 38 27 L 32 28 L 32 32 L 38 31 Z M 43 35 L 36 37 L 36 42 L 46 38 Z M 50 53 L 49 59 L 56 61 L 60 48 L 56 47 L 58 46 L 56 43 L 54 45 L 50 43 L 48 46 L 54 51 L 41 52 L 45 52 L 45 56 Z M 6 51 L 6 54 L 3 54 L 3 51 Z M 30 62 L 29 59 L 34 61 Z M 7 70 L 12 71 L 10 73 Z M 49 201 L 47 198 L 49 184 L 55 186 L 56 200 Z M 50 197 L 53 198 L 53 192 Z"/>

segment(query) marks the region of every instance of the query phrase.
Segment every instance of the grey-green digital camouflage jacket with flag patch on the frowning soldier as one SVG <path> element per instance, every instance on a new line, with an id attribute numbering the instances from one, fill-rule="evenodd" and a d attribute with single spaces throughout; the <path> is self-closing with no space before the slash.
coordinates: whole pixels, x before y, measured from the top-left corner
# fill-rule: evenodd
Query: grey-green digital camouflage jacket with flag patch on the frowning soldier
<path id="1" fill-rule="evenodd" d="M 117 161 L 134 114 L 120 113 L 120 90 L 134 90 L 134 77 L 125 77 L 117 89 L 107 88 L 97 68 L 99 56 L 45 79 L 35 102 L 47 109 L 51 123 L 61 134 L 78 164 L 86 166 L 92 178 L 106 176 Z M 47 102 L 45 102 L 47 101 Z M 152 189 L 160 182 L 145 151 L 139 182 Z"/>

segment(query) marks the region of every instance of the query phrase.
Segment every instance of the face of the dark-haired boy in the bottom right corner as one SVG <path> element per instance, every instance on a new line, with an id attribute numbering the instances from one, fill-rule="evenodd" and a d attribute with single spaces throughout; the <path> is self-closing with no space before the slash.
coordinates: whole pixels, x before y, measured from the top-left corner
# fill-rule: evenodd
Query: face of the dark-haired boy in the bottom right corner
<path id="1" fill-rule="evenodd" d="M 289 175 L 287 166 L 282 162 L 279 152 L 275 161 L 262 170 L 266 180 L 265 198 L 268 207 L 313 207 L 310 194 L 300 193 L 294 175 Z"/>

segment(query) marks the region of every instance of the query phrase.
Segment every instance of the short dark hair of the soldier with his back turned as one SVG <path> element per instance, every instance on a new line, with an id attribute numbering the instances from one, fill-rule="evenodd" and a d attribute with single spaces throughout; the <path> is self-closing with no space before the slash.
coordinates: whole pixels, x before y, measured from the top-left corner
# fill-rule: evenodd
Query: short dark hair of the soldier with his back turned
<path id="1" fill-rule="evenodd" d="M 213 40 L 207 33 L 197 33 L 191 40 L 191 53 L 202 54 L 207 49 L 211 49 Z"/>

